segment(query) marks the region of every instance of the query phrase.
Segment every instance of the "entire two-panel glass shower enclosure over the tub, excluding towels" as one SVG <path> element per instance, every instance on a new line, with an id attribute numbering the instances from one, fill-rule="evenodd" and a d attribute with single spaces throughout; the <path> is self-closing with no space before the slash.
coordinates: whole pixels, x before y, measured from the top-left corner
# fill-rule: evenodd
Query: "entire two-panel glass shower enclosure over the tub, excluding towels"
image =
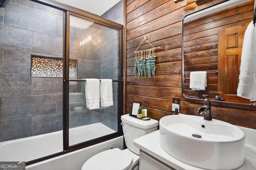
<path id="1" fill-rule="evenodd" d="M 34 164 L 122 135 L 122 27 L 53 0 L 0 8 L 0 162 Z M 86 107 L 88 78 L 113 80 L 113 106 Z"/>

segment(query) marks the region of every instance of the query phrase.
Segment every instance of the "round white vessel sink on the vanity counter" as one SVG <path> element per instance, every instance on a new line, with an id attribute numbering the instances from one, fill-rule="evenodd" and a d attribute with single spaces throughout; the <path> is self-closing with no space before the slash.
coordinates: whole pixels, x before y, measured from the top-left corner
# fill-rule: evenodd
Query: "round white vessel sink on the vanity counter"
<path id="1" fill-rule="evenodd" d="M 160 119 L 159 129 L 161 147 L 186 164 L 231 170 L 244 163 L 244 132 L 230 123 L 206 121 L 194 115 L 169 115 Z"/>

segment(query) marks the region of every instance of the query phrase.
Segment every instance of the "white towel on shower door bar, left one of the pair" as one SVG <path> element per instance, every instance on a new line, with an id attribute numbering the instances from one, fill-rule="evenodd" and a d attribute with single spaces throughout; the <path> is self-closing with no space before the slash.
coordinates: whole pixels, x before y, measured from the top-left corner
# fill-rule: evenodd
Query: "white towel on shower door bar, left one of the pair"
<path id="1" fill-rule="evenodd" d="M 86 107 L 91 109 L 100 108 L 100 80 L 96 78 L 86 78 L 85 83 Z"/>

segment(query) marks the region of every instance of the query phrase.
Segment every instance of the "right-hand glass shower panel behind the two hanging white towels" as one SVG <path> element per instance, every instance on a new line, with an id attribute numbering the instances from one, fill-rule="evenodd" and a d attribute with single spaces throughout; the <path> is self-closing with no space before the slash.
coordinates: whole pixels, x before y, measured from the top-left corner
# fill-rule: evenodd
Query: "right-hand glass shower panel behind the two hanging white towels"
<path id="1" fill-rule="evenodd" d="M 67 35 L 66 119 L 68 146 L 72 146 L 118 132 L 121 33 L 85 16 L 68 13 Z M 88 78 L 112 79 L 113 106 L 96 109 L 86 106 Z"/>

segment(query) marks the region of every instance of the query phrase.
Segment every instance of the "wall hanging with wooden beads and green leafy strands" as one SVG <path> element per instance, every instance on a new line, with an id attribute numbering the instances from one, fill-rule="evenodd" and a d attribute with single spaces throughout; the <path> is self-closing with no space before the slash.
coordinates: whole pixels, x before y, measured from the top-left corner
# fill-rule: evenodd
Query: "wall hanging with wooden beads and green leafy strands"
<path id="1" fill-rule="evenodd" d="M 146 39 L 146 36 L 144 36 L 143 41 L 140 43 L 140 45 L 144 41 L 148 41 Z M 134 70 L 133 70 L 133 75 L 135 77 L 137 76 L 138 78 L 144 76 L 148 76 L 148 78 L 151 78 L 151 76 L 154 76 L 155 78 L 155 73 L 156 73 L 156 64 L 155 64 L 155 49 L 158 49 L 160 47 L 154 47 L 149 41 L 148 43 L 152 46 L 150 49 L 146 50 L 141 50 L 137 51 L 138 48 L 133 52 L 134 53 Z"/>

